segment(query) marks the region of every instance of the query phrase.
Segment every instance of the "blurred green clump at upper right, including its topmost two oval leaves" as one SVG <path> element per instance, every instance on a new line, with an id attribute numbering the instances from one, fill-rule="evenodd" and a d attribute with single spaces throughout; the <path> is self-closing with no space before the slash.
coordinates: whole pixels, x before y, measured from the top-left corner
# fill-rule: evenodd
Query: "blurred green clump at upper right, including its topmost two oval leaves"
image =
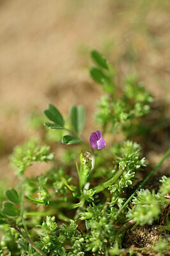
<path id="1" fill-rule="evenodd" d="M 104 95 L 97 104 L 99 111 L 97 111 L 96 120 L 104 127 L 111 124 L 111 131 L 122 127 L 123 131 L 131 132 L 134 118 L 146 115 L 150 111 L 152 95 L 146 92 L 145 86 L 138 82 L 136 76 L 131 75 L 125 79 L 122 95 L 118 96 L 114 69 L 109 62 L 104 62 L 103 56 L 99 58 L 98 55 L 99 52 L 92 52 L 94 61 L 98 65 L 100 63 L 102 65 L 100 65 L 100 69 L 91 68 L 90 74 L 96 83 L 104 86 L 104 91 L 108 95 Z"/>

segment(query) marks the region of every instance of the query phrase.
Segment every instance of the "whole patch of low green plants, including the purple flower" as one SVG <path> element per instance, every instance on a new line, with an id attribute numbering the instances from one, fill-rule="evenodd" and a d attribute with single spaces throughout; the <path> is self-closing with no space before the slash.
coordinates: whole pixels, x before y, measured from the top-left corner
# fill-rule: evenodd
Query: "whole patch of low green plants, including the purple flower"
<path id="1" fill-rule="evenodd" d="M 120 90 L 111 63 L 97 51 L 91 57 L 90 76 L 104 90 L 97 103 L 97 131 L 86 143 L 83 106 L 72 106 L 64 118 L 49 104 L 44 111 L 45 138 L 53 132 L 51 139 L 64 144 L 60 161 L 55 162 L 43 141 L 31 139 L 14 148 L 10 161 L 18 184 L 4 192 L 6 198 L 1 196 L 1 256 L 168 255 L 170 178 L 162 175 L 157 191 L 143 186 L 170 155 L 170 148 L 148 171 L 135 141 L 164 122 L 143 125 L 152 95 L 133 75 L 125 78 Z M 50 170 L 25 177 L 34 162 L 50 162 Z M 144 177 L 140 182 L 139 175 Z M 125 246 L 125 235 L 146 225 L 161 226 L 157 241 L 148 247 Z"/>

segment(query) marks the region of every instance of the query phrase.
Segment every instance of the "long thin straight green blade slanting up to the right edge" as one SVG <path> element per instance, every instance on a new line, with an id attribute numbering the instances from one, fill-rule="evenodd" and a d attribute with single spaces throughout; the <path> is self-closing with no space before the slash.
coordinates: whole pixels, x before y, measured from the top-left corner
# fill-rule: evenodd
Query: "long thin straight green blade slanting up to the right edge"
<path id="1" fill-rule="evenodd" d="M 131 199 L 133 198 L 134 195 L 136 195 L 136 192 L 139 191 L 139 189 L 142 188 L 142 186 L 146 183 L 146 181 L 148 179 L 150 179 L 150 177 L 152 176 L 152 174 L 155 172 L 155 170 L 157 170 L 157 168 L 159 168 L 159 166 L 164 162 L 164 160 L 170 155 L 170 148 L 167 150 L 166 154 L 164 154 L 164 157 L 162 157 L 162 159 L 160 160 L 160 162 L 155 166 L 155 168 L 153 168 L 153 170 L 146 176 L 146 178 L 143 180 L 143 182 L 141 182 L 141 184 L 139 185 L 139 187 L 134 191 L 134 193 L 132 193 L 132 195 L 127 199 L 127 201 L 125 202 L 125 204 L 120 208 L 120 210 L 118 211 L 117 215 L 115 216 L 115 219 L 117 219 L 118 215 L 125 209 L 125 207 L 127 206 L 127 204 L 129 204 L 129 202 L 131 201 Z"/>

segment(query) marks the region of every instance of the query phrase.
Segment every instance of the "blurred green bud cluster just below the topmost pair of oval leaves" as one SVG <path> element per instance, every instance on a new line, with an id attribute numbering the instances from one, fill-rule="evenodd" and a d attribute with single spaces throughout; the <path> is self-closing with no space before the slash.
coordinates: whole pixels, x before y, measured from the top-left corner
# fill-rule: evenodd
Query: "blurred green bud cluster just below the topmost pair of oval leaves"
<path id="1" fill-rule="evenodd" d="M 112 83 L 114 86 L 115 82 Z M 126 122 L 132 123 L 134 118 L 146 115 L 150 111 L 152 101 L 152 95 L 146 92 L 145 86 L 139 83 L 135 76 L 129 76 L 125 79 L 122 97 L 115 100 L 111 100 L 110 96 L 101 98 L 97 104 L 99 111 L 96 120 L 104 125 L 111 124 L 113 129 L 122 125 L 124 130 Z"/>

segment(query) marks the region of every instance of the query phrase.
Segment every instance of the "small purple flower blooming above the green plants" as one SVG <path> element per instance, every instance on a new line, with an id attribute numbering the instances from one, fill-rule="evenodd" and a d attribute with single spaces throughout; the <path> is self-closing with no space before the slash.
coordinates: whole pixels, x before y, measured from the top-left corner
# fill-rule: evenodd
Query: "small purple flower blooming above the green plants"
<path id="1" fill-rule="evenodd" d="M 90 135 L 90 144 L 94 149 L 102 149 L 106 147 L 106 142 L 103 140 L 101 131 L 92 132 Z"/>

